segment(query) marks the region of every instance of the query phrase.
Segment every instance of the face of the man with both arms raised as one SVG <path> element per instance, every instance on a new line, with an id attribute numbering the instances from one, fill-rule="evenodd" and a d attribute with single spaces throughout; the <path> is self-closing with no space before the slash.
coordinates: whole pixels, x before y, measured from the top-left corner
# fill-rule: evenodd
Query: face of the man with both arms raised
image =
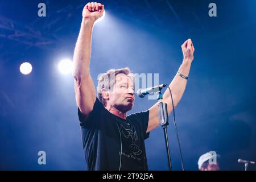
<path id="1" fill-rule="evenodd" d="M 109 104 L 126 113 L 134 105 L 134 81 L 124 73 L 115 76 L 115 85 L 110 89 Z"/>

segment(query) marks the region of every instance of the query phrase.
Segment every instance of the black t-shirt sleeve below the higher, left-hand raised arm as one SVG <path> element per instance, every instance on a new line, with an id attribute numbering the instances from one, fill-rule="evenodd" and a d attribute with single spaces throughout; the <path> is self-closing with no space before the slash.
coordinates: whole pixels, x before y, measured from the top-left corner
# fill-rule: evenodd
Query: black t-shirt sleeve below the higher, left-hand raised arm
<path id="1" fill-rule="evenodd" d="M 86 117 L 84 114 L 81 113 L 79 107 L 78 109 L 78 116 L 79 116 L 79 121 L 80 121 L 80 126 L 81 127 L 86 127 L 86 126 L 93 126 L 97 125 L 97 121 L 99 120 L 99 117 L 102 116 L 102 112 L 104 112 L 105 107 L 102 105 L 100 100 L 96 97 L 96 101 L 94 102 L 93 105 L 93 110 L 90 112 L 88 117 Z"/>

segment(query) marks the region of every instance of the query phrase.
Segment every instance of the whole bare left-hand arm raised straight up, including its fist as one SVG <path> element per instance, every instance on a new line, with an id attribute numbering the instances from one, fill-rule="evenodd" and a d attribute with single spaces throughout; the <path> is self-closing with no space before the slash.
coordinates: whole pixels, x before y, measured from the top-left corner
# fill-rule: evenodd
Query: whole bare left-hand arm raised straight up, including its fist
<path id="1" fill-rule="evenodd" d="M 88 115 L 96 101 L 92 77 L 89 73 L 93 24 L 104 13 L 101 3 L 87 3 L 82 11 L 82 23 L 73 55 L 76 103 L 81 113 Z"/>

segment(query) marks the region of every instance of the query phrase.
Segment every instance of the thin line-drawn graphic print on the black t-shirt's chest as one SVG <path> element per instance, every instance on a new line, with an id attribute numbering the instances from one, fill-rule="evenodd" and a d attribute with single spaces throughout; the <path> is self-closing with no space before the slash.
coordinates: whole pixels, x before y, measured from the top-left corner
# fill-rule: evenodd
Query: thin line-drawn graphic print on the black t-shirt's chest
<path id="1" fill-rule="evenodd" d="M 131 141 L 129 148 L 131 149 L 133 154 L 140 155 L 142 153 L 142 150 L 140 150 L 137 144 L 135 144 L 135 141 L 138 140 L 137 132 L 130 129 L 126 129 L 125 127 L 123 127 L 122 124 L 120 126 L 123 136 L 127 139 L 127 141 Z"/>

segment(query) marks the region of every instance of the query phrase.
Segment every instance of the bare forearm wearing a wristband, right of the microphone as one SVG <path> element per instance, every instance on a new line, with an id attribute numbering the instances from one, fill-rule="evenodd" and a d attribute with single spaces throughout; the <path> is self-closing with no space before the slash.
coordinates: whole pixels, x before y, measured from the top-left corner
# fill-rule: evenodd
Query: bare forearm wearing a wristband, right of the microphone
<path id="1" fill-rule="evenodd" d="M 191 67 L 191 61 L 183 60 L 183 63 L 180 65 L 178 72 L 182 73 L 185 76 L 188 76 L 190 67 Z M 174 107 L 176 107 L 179 101 L 181 100 L 181 97 L 183 96 L 186 85 L 187 85 L 187 80 L 182 78 L 179 75 L 176 75 L 172 80 L 171 84 L 169 85 L 172 92 L 172 98 L 174 100 Z M 166 90 L 166 92 L 164 92 L 163 102 L 167 103 L 168 114 L 170 114 L 172 111 L 172 102 L 171 102 L 170 91 L 168 89 Z"/>

